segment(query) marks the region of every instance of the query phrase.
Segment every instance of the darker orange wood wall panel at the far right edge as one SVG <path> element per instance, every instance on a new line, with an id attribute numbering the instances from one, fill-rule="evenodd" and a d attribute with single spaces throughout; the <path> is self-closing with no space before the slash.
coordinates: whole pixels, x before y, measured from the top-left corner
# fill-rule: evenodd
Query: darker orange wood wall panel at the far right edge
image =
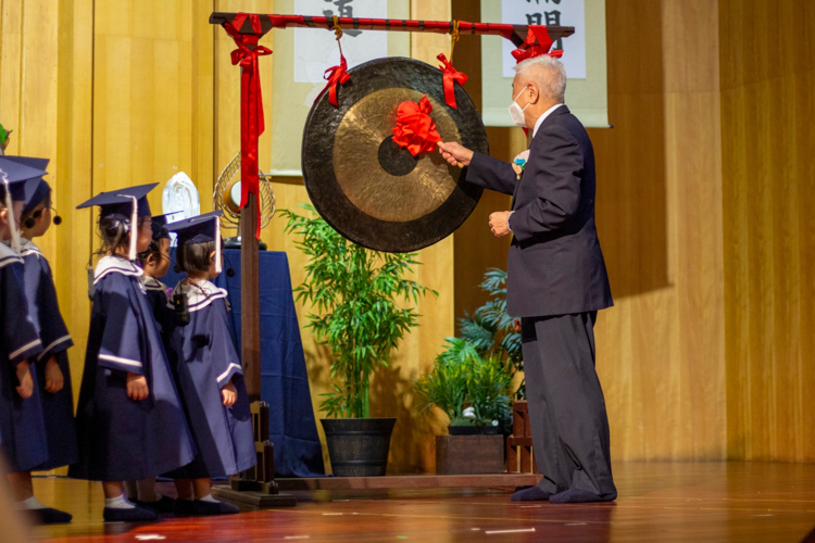
<path id="1" fill-rule="evenodd" d="M 815 460 L 815 2 L 720 0 L 727 451 Z"/>

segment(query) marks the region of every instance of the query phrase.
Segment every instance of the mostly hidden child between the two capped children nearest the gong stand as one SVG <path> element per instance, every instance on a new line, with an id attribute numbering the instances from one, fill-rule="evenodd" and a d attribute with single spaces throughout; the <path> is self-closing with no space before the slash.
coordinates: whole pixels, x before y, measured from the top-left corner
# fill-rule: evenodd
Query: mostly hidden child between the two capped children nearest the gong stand
<path id="1" fill-rule="evenodd" d="M 172 326 L 173 310 L 167 307 L 167 287 L 161 278 L 170 269 L 170 232 L 167 232 L 167 216 L 160 215 L 150 220 L 152 241 L 147 251 L 139 253 L 139 264 L 145 272 L 143 282 L 150 308 L 159 325 L 162 341 Z M 155 493 L 155 477 L 140 481 L 125 481 L 127 498 L 141 507 L 148 507 L 155 513 L 173 513 L 175 500 Z"/>

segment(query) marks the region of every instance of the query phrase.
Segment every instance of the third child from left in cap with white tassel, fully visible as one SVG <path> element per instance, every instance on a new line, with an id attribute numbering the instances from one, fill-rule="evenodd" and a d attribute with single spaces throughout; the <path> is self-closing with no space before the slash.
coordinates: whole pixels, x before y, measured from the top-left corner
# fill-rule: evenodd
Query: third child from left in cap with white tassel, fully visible
<path id="1" fill-rule="evenodd" d="M 92 280 L 93 306 L 79 390 L 79 462 L 71 477 L 102 481 L 105 520 L 154 520 L 128 502 L 122 481 L 189 464 L 195 445 L 145 293 L 138 252 L 152 239 L 147 193 L 158 184 L 103 192 L 78 209 L 101 207 L 103 255 Z"/>

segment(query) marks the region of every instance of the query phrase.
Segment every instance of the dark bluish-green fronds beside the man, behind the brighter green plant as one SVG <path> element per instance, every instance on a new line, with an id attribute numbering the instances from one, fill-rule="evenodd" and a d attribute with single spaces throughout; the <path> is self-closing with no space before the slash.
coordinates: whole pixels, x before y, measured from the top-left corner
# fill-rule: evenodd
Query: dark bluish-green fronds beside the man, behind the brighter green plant
<path id="1" fill-rule="evenodd" d="M 519 321 L 506 313 L 506 272 L 488 269 L 480 287 L 489 292 L 491 300 L 478 307 L 472 316 L 459 319 L 461 339 L 481 357 L 497 358 L 511 366 L 511 375 L 523 371 Z M 448 355 L 455 355 L 455 350 Z M 526 397 L 523 381 L 512 395 L 516 400 Z"/>

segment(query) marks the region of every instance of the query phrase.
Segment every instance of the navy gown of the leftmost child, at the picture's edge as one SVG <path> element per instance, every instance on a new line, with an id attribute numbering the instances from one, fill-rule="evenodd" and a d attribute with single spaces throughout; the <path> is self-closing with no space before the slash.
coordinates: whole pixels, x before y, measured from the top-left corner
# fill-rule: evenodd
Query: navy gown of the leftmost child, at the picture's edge
<path id="1" fill-rule="evenodd" d="M 48 459 L 46 427 L 39 401 L 37 371 L 30 365 L 34 394 L 23 400 L 17 364 L 42 352 L 23 287 L 23 260 L 0 243 L 0 442 L 9 471 L 30 471 Z"/>

